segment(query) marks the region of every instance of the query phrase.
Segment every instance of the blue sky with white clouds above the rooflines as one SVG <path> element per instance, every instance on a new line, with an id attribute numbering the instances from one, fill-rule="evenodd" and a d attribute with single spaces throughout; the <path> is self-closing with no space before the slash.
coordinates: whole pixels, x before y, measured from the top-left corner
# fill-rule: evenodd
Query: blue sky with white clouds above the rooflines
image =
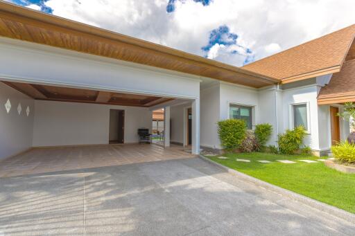
<path id="1" fill-rule="evenodd" d="M 355 0 L 6 0 L 243 66 L 355 24 Z"/>

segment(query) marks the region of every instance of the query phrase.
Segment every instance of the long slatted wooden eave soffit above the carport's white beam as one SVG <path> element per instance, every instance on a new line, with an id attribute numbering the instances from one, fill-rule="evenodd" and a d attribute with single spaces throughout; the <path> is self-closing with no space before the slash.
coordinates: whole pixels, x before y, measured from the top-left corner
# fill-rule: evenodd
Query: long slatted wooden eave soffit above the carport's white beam
<path id="1" fill-rule="evenodd" d="M 250 87 L 279 80 L 205 57 L 0 1 L 0 35 Z"/>

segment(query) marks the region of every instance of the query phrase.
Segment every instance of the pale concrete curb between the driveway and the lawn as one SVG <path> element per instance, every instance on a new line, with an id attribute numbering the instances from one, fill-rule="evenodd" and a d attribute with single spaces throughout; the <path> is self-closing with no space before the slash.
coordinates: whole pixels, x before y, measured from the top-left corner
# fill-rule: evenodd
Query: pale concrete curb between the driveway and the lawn
<path id="1" fill-rule="evenodd" d="M 244 173 L 239 172 L 237 170 L 233 170 L 230 167 L 226 167 L 225 165 L 221 165 L 219 163 L 211 161 L 209 158 L 207 158 L 205 156 L 199 155 L 199 157 L 204 161 L 207 161 L 207 162 L 209 162 L 213 165 L 216 165 L 224 170 L 227 170 L 227 172 L 229 172 L 230 174 L 238 176 L 239 178 L 241 178 L 245 181 L 251 182 L 254 185 L 257 185 L 261 188 L 266 188 L 266 190 L 269 190 L 270 192 L 275 192 L 276 194 L 282 195 L 284 197 L 288 197 L 289 199 L 300 201 L 300 202 L 304 203 L 306 206 L 310 206 L 311 208 L 315 208 L 316 210 L 326 212 L 327 214 L 329 214 L 331 216 L 336 216 L 340 219 L 348 221 L 349 223 L 355 224 L 355 215 L 350 212 L 336 208 L 335 206 L 330 206 L 327 203 L 322 203 L 320 201 L 311 199 L 309 197 L 305 197 L 301 194 L 297 194 L 297 193 L 292 192 L 290 190 L 280 188 L 276 185 L 272 185 L 271 183 L 261 181 L 260 179 L 256 179 L 252 176 L 249 176 L 248 174 L 244 174 Z"/>

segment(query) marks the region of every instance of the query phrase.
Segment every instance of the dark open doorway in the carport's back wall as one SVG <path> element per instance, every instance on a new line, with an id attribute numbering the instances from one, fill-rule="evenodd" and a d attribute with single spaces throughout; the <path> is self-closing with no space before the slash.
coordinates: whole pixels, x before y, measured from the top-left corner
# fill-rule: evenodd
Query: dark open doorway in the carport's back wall
<path id="1" fill-rule="evenodd" d="M 124 142 L 125 111 L 110 109 L 109 143 Z"/>

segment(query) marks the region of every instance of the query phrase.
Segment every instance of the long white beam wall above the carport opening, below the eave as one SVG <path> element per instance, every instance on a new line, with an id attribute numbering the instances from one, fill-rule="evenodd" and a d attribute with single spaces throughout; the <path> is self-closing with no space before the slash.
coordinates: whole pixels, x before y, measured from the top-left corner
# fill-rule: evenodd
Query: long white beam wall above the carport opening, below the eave
<path id="1" fill-rule="evenodd" d="M 4 80 L 199 98 L 200 79 L 193 75 L 3 37 L 0 51 Z"/>

